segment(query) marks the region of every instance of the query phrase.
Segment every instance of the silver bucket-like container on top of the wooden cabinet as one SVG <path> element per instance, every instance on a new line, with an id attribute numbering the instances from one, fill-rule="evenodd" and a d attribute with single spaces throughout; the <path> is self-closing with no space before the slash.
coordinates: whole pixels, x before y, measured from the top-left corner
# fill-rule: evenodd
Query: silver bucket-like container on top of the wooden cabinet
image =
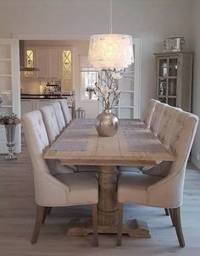
<path id="1" fill-rule="evenodd" d="M 169 37 L 164 39 L 164 52 L 181 52 L 185 44 L 184 37 Z"/>

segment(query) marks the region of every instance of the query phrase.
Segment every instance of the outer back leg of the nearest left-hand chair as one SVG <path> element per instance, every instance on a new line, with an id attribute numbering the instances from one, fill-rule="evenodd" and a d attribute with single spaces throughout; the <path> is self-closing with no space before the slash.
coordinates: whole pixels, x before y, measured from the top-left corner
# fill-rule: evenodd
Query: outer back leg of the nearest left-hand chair
<path id="1" fill-rule="evenodd" d="M 31 239 L 32 244 L 36 243 L 39 233 L 41 231 L 42 219 L 44 216 L 44 209 L 45 207 L 36 204 L 36 223 L 35 223 L 32 239 Z"/>

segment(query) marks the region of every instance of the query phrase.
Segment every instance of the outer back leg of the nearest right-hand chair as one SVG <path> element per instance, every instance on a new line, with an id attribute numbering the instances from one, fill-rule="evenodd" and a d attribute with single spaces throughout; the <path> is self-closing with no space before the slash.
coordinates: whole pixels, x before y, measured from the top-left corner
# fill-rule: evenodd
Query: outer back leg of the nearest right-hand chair
<path id="1" fill-rule="evenodd" d="M 183 237 L 182 227 L 181 227 L 181 210 L 180 207 L 172 209 L 173 211 L 173 220 L 175 223 L 175 231 L 179 240 L 179 244 L 181 248 L 184 248 L 186 246 L 185 240 Z"/>

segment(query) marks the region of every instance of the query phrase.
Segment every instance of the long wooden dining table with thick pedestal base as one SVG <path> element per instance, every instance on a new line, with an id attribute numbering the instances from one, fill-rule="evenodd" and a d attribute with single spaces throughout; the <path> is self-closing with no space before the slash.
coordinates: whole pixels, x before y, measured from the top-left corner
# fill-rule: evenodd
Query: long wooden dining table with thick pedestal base
<path id="1" fill-rule="evenodd" d="M 98 232 L 117 232 L 118 166 L 154 166 L 157 161 L 174 161 L 175 156 L 153 136 L 142 120 L 119 120 L 114 136 L 98 136 L 95 120 L 76 119 L 47 148 L 44 159 L 58 159 L 63 165 L 95 165 L 98 172 Z M 81 223 L 81 224 L 80 224 Z M 87 235 L 92 225 L 73 222 L 68 235 Z M 123 233 L 150 237 L 147 223 L 126 221 Z"/>

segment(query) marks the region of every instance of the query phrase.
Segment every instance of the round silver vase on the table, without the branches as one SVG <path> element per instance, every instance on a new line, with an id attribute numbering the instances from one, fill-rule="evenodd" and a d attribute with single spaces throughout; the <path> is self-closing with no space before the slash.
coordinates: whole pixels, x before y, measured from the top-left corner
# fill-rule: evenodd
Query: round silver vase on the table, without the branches
<path id="1" fill-rule="evenodd" d="M 103 110 L 97 115 L 95 127 L 99 136 L 114 136 L 119 127 L 118 117 L 111 110 Z"/>

